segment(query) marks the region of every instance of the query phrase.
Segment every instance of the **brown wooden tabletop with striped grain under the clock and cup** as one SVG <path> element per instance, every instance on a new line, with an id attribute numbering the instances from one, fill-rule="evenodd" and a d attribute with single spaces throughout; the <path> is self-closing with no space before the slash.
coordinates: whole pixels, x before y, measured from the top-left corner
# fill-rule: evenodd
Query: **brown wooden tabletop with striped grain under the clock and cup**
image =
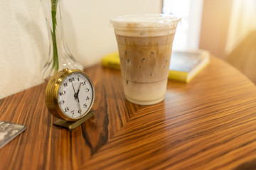
<path id="1" fill-rule="evenodd" d="M 256 169 L 256 87 L 225 62 L 169 81 L 153 106 L 125 100 L 118 70 L 85 72 L 95 117 L 72 132 L 53 125 L 46 84 L 0 100 L 0 120 L 27 127 L 0 149 L 0 169 Z"/>

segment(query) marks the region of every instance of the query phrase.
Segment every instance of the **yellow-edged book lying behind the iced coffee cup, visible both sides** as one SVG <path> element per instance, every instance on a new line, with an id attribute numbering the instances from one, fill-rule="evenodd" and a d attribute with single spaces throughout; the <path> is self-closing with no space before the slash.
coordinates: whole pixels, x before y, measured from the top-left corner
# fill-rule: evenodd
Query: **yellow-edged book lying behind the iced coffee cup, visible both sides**
<path id="1" fill-rule="evenodd" d="M 210 62 L 210 54 L 205 50 L 174 50 L 168 79 L 188 83 Z M 120 69 L 118 52 L 102 58 L 102 66 Z"/>

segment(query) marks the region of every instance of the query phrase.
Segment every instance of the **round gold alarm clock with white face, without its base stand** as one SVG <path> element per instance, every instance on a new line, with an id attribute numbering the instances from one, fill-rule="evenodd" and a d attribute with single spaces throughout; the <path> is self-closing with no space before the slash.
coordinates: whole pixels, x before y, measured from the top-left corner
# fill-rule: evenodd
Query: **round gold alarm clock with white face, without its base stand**
<path id="1" fill-rule="evenodd" d="M 75 122 L 90 112 L 95 99 L 91 79 L 79 69 L 63 69 L 46 86 L 46 106 L 56 118 Z"/>

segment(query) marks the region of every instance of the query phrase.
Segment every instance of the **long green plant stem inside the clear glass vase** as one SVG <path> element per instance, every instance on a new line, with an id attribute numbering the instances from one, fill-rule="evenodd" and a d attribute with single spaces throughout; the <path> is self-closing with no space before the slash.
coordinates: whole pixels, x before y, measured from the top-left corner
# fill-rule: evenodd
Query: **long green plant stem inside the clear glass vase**
<path id="1" fill-rule="evenodd" d="M 56 28 L 56 25 L 57 25 L 56 13 L 57 13 L 58 0 L 51 0 L 51 3 L 52 3 L 51 14 L 52 14 L 52 22 L 53 22 L 53 33 L 52 33 L 52 38 L 53 38 L 53 69 L 54 69 L 54 72 L 58 72 L 58 68 L 59 68 L 58 48 L 57 48 L 57 40 L 56 40 L 56 33 L 55 33 L 55 28 Z"/>

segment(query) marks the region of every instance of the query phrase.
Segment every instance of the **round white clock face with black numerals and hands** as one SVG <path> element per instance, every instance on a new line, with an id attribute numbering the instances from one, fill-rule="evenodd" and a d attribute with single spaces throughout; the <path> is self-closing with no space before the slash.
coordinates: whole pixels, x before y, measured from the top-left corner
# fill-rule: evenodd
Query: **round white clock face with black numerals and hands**
<path id="1" fill-rule="evenodd" d="M 92 82 L 84 74 L 69 74 L 58 89 L 58 105 L 60 110 L 71 119 L 85 116 L 92 107 L 94 89 Z"/>

